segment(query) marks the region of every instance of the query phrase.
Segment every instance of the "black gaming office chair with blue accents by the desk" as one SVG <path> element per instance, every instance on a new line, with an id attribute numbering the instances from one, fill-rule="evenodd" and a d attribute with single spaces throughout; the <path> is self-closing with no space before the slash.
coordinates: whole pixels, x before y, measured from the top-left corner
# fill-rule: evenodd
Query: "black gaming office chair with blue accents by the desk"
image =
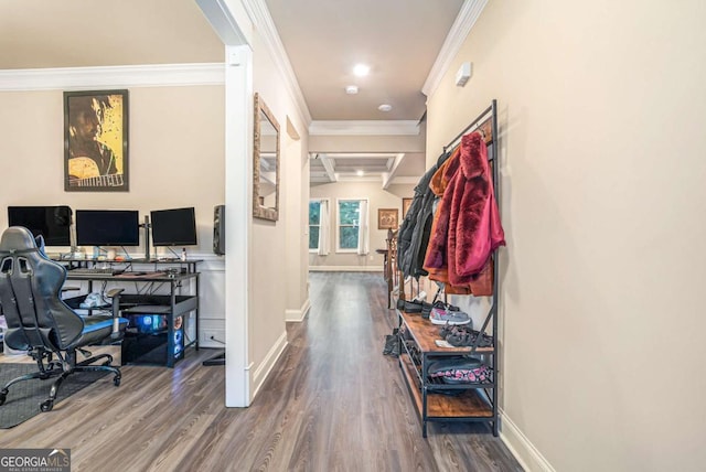
<path id="1" fill-rule="evenodd" d="M 0 405 L 4 404 L 13 384 L 32 378 L 44 380 L 57 376 L 49 398 L 40 404 L 42 411 L 53 408 L 60 385 L 75 372 L 111 372 L 113 383 L 116 387 L 120 385 L 120 369 L 111 365 L 113 356 L 90 357 L 83 347 L 119 341 L 128 323 L 119 318 L 121 289 L 111 293 L 110 314 L 93 313 L 92 310 L 89 315 L 82 317 L 62 300 L 65 279 L 64 266 L 44 256 L 29 229 L 12 226 L 2 233 L 0 304 L 8 324 L 4 343 L 13 350 L 28 351 L 39 369 L 10 380 L 0 390 Z M 76 351 L 89 358 L 76 362 Z M 105 360 L 103 364 L 90 365 L 100 360 Z"/>

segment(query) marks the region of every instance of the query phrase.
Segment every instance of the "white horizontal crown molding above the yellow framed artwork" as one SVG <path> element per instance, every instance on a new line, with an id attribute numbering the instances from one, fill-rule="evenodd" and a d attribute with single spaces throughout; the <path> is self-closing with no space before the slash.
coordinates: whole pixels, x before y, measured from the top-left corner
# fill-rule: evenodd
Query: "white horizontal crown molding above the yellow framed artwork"
<path id="1" fill-rule="evenodd" d="M 225 65 L 150 64 L 0 71 L 0 92 L 225 84 Z"/>

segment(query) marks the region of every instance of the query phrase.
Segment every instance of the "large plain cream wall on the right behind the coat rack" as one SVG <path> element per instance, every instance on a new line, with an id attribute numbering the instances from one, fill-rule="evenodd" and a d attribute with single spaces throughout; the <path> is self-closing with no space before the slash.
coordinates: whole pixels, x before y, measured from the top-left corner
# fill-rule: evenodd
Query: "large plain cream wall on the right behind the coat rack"
<path id="1" fill-rule="evenodd" d="M 532 470 L 706 462 L 704 18 L 491 1 L 429 97 L 429 164 L 499 100 L 502 429 Z"/>

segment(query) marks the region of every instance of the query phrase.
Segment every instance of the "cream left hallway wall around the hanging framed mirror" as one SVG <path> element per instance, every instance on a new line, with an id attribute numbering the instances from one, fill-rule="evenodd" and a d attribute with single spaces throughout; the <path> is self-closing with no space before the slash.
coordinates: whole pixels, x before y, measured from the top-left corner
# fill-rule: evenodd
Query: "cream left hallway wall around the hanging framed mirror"
<path id="1" fill-rule="evenodd" d="M 307 168 L 308 127 L 257 30 L 253 34 L 253 84 L 255 92 L 279 121 L 282 173 L 279 219 L 269 222 L 254 218 L 249 243 L 248 360 L 253 364 L 250 393 L 255 394 L 286 346 L 285 321 L 288 310 L 301 310 L 308 304 L 307 267 L 301 264 L 301 257 L 288 256 L 288 250 L 298 247 L 297 254 L 301 255 L 306 248 L 301 215 L 307 207 L 301 208 L 301 202 L 302 194 L 307 192 L 302 179 L 306 178 L 308 184 L 308 174 L 303 175 Z M 288 120 L 290 128 L 300 137 L 296 143 L 291 142 Z"/>

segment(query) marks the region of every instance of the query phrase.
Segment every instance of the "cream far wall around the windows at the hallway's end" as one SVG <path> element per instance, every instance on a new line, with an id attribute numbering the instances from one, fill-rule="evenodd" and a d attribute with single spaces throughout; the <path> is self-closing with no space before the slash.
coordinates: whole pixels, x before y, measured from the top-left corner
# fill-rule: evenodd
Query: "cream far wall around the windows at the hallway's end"
<path id="1" fill-rule="evenodd" d="M 329 199 L 331 202 L 331 250 L 328 256 L 309 254 L 309 267 L 312 270 L 333 267 L 345 270 L 383 270 L 383 256 L 375 253 L 375 249 L 385 249 L 387 229 L 377 229 L 377 210 L 397 208 L 398 218 L 402 223 L 402 199 L 414 196 L 414 184 L 389 185 L 383 190 L 379 182 L 336 182 L 323 185 L 313 185 L 310 189 L 311 199 Z M 357 254 L 338 253 L 335 222 L 338 221 L 336 199 L 368 199 L 370 202 L 370 254 L 359 256 Z"/>

